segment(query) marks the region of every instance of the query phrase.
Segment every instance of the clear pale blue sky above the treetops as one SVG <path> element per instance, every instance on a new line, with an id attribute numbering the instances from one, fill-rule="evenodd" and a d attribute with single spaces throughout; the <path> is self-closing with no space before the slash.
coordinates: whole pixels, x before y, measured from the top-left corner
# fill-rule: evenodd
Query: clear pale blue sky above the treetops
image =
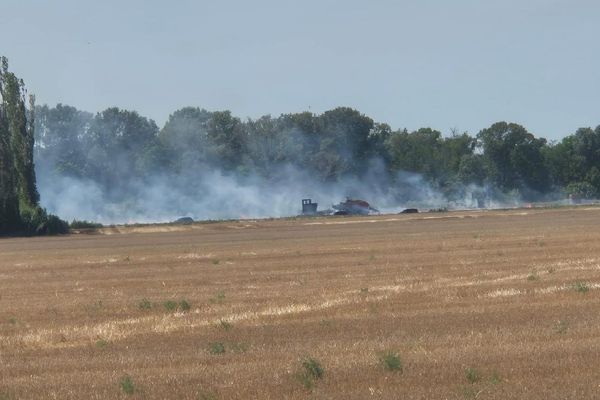
<path id="1" fill-rule="evenodd" d="M 38 103 L 256 118 L 350 106 L 392 128 L 559 139 L 600 124 L 598 0 L 2 0 Z"/>

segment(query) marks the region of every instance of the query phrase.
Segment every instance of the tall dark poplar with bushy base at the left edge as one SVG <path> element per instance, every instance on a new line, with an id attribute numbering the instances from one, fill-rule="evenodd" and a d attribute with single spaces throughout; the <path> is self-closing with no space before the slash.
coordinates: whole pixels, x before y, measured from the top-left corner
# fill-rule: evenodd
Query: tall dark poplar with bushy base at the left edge
<path id="1" fill-rule="evenodd" d="M 33 163 L 35 99 L 8 70 L 5 57 L 0 64 L 0 234 L 65 232 L 67 224 L 39 206 Z"/>

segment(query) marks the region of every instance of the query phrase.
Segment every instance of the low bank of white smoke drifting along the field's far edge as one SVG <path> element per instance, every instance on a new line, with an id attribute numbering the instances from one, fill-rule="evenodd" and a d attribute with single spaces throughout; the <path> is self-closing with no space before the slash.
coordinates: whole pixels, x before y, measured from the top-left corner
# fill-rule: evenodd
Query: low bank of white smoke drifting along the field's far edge
<path id="1" fill-rule="evenodd" d="M 295 216 L 303 198 L 318 202 L 319 210 L 330 209 L 346 197 L 360 198 L 385 213 L 449 204 L 420 175 L 402 173 L 391 179 L 378 160 L 371 162 L 362 178 L 335 183 L 319 182 L 287 165 L 269 179 L 217 169 L 185 176 L 156 175 L 134 181 L 127 193 L 117 196 L 105 193 L 93 181 L 55 173 L 38 173 L 38 187 L 41 204 L 49 212 L 69 221 L 103 224 L 170 222 L 184 216 L 194 220 Z M 454 206 L 473 207 L 469 201 Z"/>

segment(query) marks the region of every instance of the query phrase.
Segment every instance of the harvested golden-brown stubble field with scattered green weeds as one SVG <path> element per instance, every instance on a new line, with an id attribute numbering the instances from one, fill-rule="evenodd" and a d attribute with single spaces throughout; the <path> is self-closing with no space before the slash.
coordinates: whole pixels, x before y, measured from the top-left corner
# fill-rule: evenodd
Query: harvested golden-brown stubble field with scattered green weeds
<path id="1" fill-rule="evenodd" d="M 600 208 L 0 240 L 0 399 L 600 398 Z"/>

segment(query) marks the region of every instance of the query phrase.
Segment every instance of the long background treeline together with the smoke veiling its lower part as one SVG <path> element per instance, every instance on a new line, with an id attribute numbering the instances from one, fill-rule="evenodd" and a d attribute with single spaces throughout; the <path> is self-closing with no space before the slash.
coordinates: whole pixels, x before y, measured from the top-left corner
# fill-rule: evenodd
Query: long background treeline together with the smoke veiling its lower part
<path id="1" fill-rule="evenodd" d="M 444 136 L 346 107 L 247 120 L 185 107 L 159 128 L 135 111 L 59 104 L 38 106 L 35 127 L 50 209 L 105 221 L 289 215 L 306 195 L 389 205 L 461 201 L 469 188 L 520 200 L 600 194 L 600 126 L 550 143 L 506 122 Z"/>

